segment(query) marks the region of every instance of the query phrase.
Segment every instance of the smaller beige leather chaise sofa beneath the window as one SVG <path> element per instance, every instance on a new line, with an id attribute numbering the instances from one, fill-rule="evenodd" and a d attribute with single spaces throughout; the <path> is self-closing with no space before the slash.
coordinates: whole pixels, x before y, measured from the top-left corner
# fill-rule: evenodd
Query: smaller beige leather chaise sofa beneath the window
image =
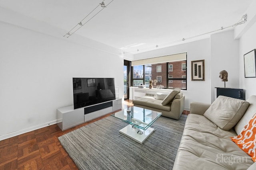
<path id="1" fill-rule="evenodd" d="M 184 110 L 185 96 L 176 88 L 170 94 L 157 93 L 133 100 L 134 106 L 162 112 L 162 116 L 179 119 Z"/>

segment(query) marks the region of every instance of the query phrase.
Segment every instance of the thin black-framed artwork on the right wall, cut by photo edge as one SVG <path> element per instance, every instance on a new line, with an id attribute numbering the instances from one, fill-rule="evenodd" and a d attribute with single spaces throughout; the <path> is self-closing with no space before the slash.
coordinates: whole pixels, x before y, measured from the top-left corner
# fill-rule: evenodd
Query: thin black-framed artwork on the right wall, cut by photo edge
<path id="1" fill-rule="evenodd" d="M 244 77 L 256 77 L 255 49 L 244 55 Z"/>

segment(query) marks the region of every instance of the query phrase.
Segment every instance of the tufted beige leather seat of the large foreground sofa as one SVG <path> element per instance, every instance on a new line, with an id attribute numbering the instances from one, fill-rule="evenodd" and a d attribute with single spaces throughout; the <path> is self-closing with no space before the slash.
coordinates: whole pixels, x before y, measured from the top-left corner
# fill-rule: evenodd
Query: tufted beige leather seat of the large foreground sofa
<path id="1" fill-rule="evenodd" d="M 253 161 L 230 140 L 235 135 L 203 115 L 188 114 L 173 170 L 246 170 Z"/>

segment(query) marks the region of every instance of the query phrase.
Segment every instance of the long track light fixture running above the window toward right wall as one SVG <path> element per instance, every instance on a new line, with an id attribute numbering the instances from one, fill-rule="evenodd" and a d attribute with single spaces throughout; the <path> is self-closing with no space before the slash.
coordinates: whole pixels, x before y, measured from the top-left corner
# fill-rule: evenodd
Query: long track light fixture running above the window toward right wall
<path id="1" fill-rule="evenodd" d="M 185 41 L 187 39 L 192 39 L 192 38 L 196 38 L 196 37 L 199 37 L 199 36 L 202 36 L 202 35 L 206 35 L 206 34 L 209 34 L 209 33 L 213 33 L 213 32 L 216 32 L 216 31 L 220 31 L 222 29 L 226 29 L 226 28 L 230 28 L 230 27 L 236 27 L 237 25 L 240 25 L 240 24 L 243 24 L 247 21 L 247 15 L 243 15 L 242 18 L 237 22 L 237 23 L 234 23 L 233 25 L 230 25 L 228 27 L 221 27 L 220 29 L 217 29 L 217 30 L 214 30 L 214 31 L 210 31 L 208 33 L 202 33 L 200 35 L 195 35 L 193 37 L 188 37 L 188 38 L 182 38 L 180 40 L 177 40 L 177 41 L 173 41 L 173 42 L 170 42 L 170 43 L 165 43 L 165 44 L 161 44 L 161 45 L 156 45 L 154 47 L 147 47 L 147 48 L 144 48 L 144 49 L 137 49 L 137 51 L 143 51 L 143 50 L 147 50 L 147 49 L 154 49 L 156 47 L 160 47 L 160 46 L 166 46 L 166 45 L 170 45 L 170 44 L 174 44 L 174 43 L 178 43 L 180 41 Z M 132 53 L 132 52 L 136 52 L 136 51 L 129 51 L 129 52 L 126 52 L 126 51 L 123 51 L 123 53 Z"/>

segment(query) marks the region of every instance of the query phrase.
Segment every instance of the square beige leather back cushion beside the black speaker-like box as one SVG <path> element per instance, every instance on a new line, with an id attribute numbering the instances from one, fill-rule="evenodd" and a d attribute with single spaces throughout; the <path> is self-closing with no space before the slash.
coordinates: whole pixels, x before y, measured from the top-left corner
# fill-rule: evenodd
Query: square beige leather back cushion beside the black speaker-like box
<path id="1" fill-rule="evenodd" d="M 244 100 L 218 96 L 205 111 L 204 116 L 223 130 L 230 130 L 244 115 L 249 102 Z"/>

